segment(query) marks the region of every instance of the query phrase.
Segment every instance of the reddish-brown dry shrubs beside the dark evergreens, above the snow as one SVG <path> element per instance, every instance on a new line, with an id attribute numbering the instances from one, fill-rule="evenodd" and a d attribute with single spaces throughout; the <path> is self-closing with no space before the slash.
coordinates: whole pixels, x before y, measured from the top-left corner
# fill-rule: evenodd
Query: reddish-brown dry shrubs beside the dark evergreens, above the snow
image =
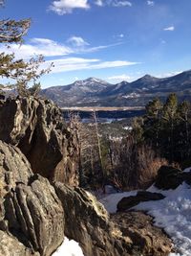
<path id="1" fill-rule="evenodd" d="M 151 147 L 137 145 L 132 138 L 120 148 L 120 162 L 113 180 L 123 190 L 146 189 L 155 181 L 160 166 L 168 165 Z"/>

